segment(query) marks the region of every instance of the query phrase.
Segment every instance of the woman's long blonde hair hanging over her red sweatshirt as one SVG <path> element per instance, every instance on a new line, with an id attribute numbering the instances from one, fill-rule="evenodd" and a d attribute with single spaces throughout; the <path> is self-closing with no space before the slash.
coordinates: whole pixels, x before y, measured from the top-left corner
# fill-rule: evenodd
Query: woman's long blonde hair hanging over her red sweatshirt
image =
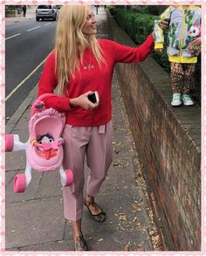
<path id="1" fill-rule="evenodd" d="M 87 5 L 65 5 L 59 13 L 55 44 L 59 95 L 65 94 L 70 76 L 74 78 L 79 70 L 86 47 L 91 48 L 99 66 L 105 61 L 95 35 L 85 36 L 82 33 L 87 10 Z"/>

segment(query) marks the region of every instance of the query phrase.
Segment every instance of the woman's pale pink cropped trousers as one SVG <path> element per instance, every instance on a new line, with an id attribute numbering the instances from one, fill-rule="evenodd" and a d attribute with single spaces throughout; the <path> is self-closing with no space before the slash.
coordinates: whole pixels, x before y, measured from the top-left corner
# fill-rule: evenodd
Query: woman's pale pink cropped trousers
<path id="1" fill-rule="evenodd" d="M 65 169 L 71 168 L 74 183 L 63 189 L 64 215 L 66 219 L 76 221 L 82 218 L 84 163 L 90 169 L 87 177 L 86 194 L 95 197 L 101 183 L 106 178 L 112 163 L 112 121 L 100 127 L 65 126 L 63 138 Z"/>

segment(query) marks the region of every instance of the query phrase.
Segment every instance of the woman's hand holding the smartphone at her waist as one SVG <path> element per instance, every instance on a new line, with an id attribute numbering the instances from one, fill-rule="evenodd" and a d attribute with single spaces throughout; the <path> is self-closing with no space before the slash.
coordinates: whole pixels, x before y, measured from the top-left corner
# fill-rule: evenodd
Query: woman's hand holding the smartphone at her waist
<path id="1" fill-rule="evenodd" d="M 88 100 L 88 95 L 91 93 L 93 93 L 93 92 L 89 91 L 87 93 L 80 95 L 77 98 L 71 99 L 70 105 L 73 107 L 79 106 L 79 107 L 83 107 L 85 109 L 93 110 L 94 108 L 98 107 L 99 103 L 93 103 L 90 100 Z"/>

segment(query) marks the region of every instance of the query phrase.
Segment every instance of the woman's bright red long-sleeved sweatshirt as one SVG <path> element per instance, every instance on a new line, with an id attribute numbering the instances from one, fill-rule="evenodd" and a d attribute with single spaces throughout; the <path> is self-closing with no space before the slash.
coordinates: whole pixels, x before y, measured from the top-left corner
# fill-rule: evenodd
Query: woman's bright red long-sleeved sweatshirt
<path id="1" fill-rule="evenodd" d="M 66 123 L 72 126 L 100 126 L 112 119 L 111 86 L 113 67 L 117 62 L 133 63 L 147 58 L 154 50 L 154 39 L 150 34 L 147 40 L 138 48 L 131 48 L 113 41 L 100 39 L 100 47 L 106 64 L 100 67 L 90 49 L 84 52 L 84 61 L 80 65 L 80 72 L 75 74 L 75 80 L 70 78 L 67 96 L 56 94 L 45 100 L 45 107 L 53 107 L 58 111 L 65 111 Z M 93 66 L 88 69 L 89 64 Z M 43 93 L 53 93 L 58 86 L 58 76 L 55 73 L 55 52 L 46 59 L 42 76 L 38 83 L 38 96 Z M 70 99 L 88 91 L 97 91 L 100 104 L 96 109 L 86 110 L 82 107 L 71 107 Z"/>

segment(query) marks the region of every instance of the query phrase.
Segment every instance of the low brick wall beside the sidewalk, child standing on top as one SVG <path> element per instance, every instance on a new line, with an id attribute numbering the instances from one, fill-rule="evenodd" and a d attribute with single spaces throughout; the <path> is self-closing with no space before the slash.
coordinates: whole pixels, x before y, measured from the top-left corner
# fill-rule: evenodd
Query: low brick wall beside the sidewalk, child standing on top
<path id="1" fill-rule="evenodd" d="M 107 17 L 110 38 L 134 46 Z M 201 250 L 201 109 L 170 106 L 168 74 L 151 57 L 116 70 L 167 249 Z"/>

